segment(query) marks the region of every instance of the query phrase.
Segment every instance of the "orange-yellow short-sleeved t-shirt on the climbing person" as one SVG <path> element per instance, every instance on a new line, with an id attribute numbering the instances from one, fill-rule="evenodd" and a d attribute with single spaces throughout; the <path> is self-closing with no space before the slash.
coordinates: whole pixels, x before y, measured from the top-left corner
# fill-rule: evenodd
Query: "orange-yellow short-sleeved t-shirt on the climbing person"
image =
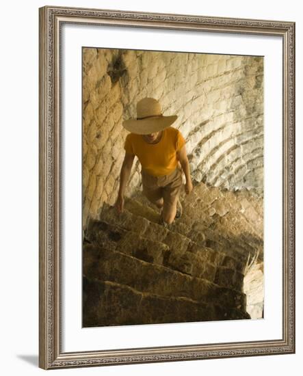
<path id="1" fill-rule="evenodd" d="M 178 165 L 176 152 L 181 150 L 185 139 L 181 133 L 169 126 L 163 130 L 157 144 L 148 144 L 142 135 L 129 133 L 125 140 L 124 149 L 127 154 L 136 155 L 142 168 L 153 176 L 168 175 Z"/>

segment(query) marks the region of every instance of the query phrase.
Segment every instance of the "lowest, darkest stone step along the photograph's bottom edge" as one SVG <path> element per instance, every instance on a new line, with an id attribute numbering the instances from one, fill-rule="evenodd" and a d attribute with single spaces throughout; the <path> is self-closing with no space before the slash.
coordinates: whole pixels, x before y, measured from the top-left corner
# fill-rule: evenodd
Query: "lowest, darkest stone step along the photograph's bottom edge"
<path id="1" fill-rule="evenodd" d="M 142 293 L 116 282 L 83 278 L 83 292 L 83 327 L 250 319 L 235 308 Z"/>

